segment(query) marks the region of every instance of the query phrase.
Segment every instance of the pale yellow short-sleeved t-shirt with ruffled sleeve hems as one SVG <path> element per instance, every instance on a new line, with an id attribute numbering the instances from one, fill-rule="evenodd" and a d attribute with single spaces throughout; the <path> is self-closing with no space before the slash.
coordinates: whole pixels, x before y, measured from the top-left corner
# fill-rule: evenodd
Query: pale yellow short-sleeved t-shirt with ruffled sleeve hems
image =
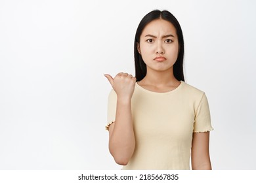
<path id="1" fill-rule="evenodd" d="M 108 97 L 108 122 L 116 118 L 117 95 Z M 190 169 L 193 132 L 211 131 L 205 93 L 181 82 L 170 92 L 135 84 L 131 99 L 135 151 L 123 169 Z"/>

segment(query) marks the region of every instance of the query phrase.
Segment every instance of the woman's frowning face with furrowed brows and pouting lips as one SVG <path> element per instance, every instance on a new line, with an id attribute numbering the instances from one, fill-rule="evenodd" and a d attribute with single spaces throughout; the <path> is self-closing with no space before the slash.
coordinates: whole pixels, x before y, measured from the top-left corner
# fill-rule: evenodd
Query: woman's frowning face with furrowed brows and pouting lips
<path id="1" fill-rule="evenodd" d="M 175 27 L 167 20 L 153 20 L 144 27 L 137 48 L 146 63 L 147 71 L 173 69 L 179 53 Z"/>

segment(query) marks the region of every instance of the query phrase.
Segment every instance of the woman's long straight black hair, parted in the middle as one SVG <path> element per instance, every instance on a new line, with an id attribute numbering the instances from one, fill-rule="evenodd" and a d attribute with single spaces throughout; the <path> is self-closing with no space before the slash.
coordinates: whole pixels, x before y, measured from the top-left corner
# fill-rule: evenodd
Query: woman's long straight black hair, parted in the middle
<path id="1" fill-rule="evenodd" d="M 138 52 L 137 44 L 140 42 L 140 35 L 150 22 L 156 19 L 163 19 L 171 22 L 174 25 L 178 41 L 179 41 L 179 54 L 177 57 L 177 61 L 173 65 L 173 75 L 177 80 L 184 81 L 184 74 L 183 74 L 183 58 L 184 58 L 184 41 L 183 41 L 183 34 L 181 30 L 181 25 L 179 24 L 178 20 L 171 14 L 171 12 L 167 10 L 152 10 L 142 20 L 137 28 L 136 35 L 135 35 L 135 42 L 134 42 L 134 57 L 135 57 L 135 77 L 137 81 L 140 81 L 146 76 L 146 64 L 144 63 L 141 55 Z"/>

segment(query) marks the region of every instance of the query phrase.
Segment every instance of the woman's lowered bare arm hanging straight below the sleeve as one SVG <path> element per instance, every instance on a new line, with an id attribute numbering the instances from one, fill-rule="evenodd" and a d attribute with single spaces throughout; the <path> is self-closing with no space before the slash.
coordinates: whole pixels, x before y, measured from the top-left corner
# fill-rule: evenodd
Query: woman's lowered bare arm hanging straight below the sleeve
<path id="1" fill-rule="evenodd" d="M 211 170 L 209 135 L 209 131 L 193 133 L 191 148 L 191 164 L 193 170 Z"/>

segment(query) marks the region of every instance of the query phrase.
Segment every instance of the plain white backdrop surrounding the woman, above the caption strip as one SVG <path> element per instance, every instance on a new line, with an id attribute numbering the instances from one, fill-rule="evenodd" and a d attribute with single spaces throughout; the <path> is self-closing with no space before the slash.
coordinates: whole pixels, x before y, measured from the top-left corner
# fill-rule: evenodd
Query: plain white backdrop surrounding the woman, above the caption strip
<path id="1" fill-rule="evenodd" d="M 208 98 L 213 169 L 256 169 L 255 1 L 0 1 L 0 169 L 120 169 L 104 73 L 134 75 L 156 8 L 179 20 L 188 84 Z"/>

